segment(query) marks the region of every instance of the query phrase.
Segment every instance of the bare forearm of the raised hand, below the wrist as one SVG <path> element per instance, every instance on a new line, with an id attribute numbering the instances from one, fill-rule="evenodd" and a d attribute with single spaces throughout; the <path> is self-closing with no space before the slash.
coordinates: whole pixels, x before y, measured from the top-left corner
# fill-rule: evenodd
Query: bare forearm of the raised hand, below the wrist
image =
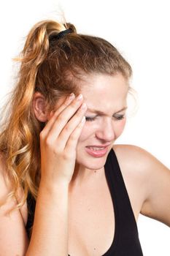
<path id="1" fill-rule="evenodd" d="M 31 241 L 26 256 L 68 255 L 69 184 L 40 184 Z"/>

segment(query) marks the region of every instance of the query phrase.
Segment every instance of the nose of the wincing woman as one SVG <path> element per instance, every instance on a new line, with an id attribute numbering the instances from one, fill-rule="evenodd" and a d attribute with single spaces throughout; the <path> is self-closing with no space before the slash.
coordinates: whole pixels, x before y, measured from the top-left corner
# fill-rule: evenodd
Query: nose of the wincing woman
<path id="1" fill-rule="evenodd" d="M 107 142 L 111 142 L 115 139 L 115 131 L 112 120 L 109 118 L 102 122 L 100 127 L 96 130 L 96 138 L 100 140 L 104 140 Z"/>

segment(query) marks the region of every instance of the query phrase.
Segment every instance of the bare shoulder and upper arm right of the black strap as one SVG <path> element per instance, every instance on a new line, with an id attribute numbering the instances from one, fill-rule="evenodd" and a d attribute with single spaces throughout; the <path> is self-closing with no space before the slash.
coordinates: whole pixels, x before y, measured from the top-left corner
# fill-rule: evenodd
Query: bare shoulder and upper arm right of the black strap
<path id="1" fill-rule="evenodd" d="M 140 213 L 170 226 L 170 170 L 144 148 L 134 145 L 113 146 L 123 176 L 142 195 Z M 138 194 L 140 195 L 140 194 Z"/>

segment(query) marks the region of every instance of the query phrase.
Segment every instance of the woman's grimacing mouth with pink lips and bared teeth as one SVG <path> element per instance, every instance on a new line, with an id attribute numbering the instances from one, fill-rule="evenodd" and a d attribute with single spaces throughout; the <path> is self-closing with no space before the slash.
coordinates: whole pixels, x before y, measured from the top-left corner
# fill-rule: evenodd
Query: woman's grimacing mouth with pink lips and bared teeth
<path id="1" fill-rule="evenodd" d="M 86 152 L 92 157 L 104 157 L 107 154 L 108 146 L 86 146 Z"/>

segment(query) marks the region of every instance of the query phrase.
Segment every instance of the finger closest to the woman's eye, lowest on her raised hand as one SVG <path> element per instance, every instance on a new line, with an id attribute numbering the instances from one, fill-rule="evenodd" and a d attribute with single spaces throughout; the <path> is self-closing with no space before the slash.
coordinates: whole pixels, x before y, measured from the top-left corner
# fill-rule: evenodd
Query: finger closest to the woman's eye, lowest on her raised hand
<path id="1" fill-rule="evenodd" d="M 57 144 L 59 151 L 63 151 L 66 147 L 66 143 L 69 140 L 70 135 L 74 132 L 74 129 L 80 124 L 83 116 L 85 115 L 85 111 L 87 110 L 87 105 L 83 103 L 77 113 L 70 119 L 70 121 L 66 124 L 66 127 L 62 130 L 61 134 L 57 138 Z"/>

